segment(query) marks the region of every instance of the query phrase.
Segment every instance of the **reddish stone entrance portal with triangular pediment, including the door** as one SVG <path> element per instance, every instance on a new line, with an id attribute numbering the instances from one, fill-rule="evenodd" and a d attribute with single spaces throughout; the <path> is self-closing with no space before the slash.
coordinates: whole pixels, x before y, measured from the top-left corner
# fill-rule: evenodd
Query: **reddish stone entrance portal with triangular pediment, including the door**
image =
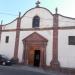
<path id="1" fill-rule="evenodd" d="M 45 66 L 47 42 L 46 38 L 36 32 L 23 39 L 23 63 L 33 66 Z"/>

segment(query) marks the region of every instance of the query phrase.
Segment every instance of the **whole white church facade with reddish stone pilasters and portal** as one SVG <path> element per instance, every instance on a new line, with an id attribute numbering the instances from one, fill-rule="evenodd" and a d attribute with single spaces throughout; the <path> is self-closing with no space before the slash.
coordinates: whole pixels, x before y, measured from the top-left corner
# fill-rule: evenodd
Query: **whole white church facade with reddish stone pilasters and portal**
<path id="1" fill-rule="evenodd" d="M 37 4 L 0 25 L 0 54 L 25 65 L 75 68 L 75 18 Z"/>

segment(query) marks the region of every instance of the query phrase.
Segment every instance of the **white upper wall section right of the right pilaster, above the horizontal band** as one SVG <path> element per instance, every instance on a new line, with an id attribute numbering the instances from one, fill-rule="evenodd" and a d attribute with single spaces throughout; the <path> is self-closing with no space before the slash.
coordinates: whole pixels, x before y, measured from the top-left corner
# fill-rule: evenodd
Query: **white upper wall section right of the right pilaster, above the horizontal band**
<path id="1" fill-rule="evenodd" d="M 75 26 L 75 19 L 59 16 L 59 27 Z"/>

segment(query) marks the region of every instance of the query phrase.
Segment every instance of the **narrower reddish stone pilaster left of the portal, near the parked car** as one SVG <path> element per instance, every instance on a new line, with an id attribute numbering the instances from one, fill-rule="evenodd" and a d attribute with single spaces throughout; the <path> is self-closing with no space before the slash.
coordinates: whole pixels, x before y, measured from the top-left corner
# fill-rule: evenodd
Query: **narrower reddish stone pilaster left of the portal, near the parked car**
<path id="1" fill-rule="evenodd" d="M 14 57 L 13 57 L 13 59 L 14 59 L 16 62 L 18 62 L 18 47 L 19 47 L 20 24 L 21 24 L 20 14 L 21 14 L 21 13 L 19 13 L 19 17 L 17 18 L 15 48 L 14 48 Z"/>

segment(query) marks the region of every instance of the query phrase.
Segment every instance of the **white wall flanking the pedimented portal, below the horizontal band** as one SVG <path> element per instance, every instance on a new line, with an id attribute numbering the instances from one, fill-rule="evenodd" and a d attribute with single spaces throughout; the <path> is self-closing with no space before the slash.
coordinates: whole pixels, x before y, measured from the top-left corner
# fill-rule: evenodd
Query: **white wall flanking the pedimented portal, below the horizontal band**
<path id="1" fill-rule="evenodd" d="M 19 62 L 22 61 L 22 54 L 23 54 L 23 42 L 22 40 L 32 34 L 34 31 L 21 31 L 20 33 L 20 41 L 19 41 L 19 51 L 18 51 L 18 57 Z M 46 39 L 48 39 L 47 48 L 46 48 L 46 64 L 50 65 L 50 62 L 52 60 L 52 42 L 53 42 L 53 31 L 36 31 Z"/>

